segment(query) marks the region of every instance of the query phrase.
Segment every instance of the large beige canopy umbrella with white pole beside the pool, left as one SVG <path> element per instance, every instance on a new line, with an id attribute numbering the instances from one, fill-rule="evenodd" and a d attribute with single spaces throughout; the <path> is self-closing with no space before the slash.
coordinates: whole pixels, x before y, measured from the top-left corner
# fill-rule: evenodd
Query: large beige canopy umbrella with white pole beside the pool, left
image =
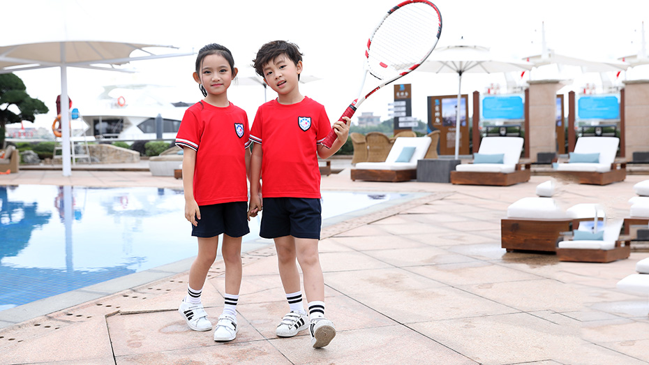
<path id="1" fill-rule="evenodd" d="M 70 126 L 68 116 L 68 67 L 98 70 L 119 70 L 114 66 L 130 61 L 189 56 L 193 52 L 155 54 L 149 48 L 174 48 L 168 45 L 110 42 L 94 40 L 62 40 L 57 42 L 23 43 L 0 47 L 0 73 L 36 68 L 61 68 L 61 136 L 63 144 L 63 176 L 70 176 Z M 144 55 L 131 57 L 135 51 Z M 103 66 L 99 66 L 103 65 Z M 133 70 L 126 70 L 133 72 Z"/>

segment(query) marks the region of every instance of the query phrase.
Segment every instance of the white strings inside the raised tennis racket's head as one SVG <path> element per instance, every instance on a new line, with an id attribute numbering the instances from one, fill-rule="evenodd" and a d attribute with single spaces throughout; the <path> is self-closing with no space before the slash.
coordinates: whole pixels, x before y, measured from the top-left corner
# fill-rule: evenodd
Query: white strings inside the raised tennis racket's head
<path id="1" fill-rule="evenodd" d="M 409 3 L 375 30 L 368 49 L 370 73 L 383 80 L 421 63 L 437 43 L 439 13 L 426 3 Z"/>

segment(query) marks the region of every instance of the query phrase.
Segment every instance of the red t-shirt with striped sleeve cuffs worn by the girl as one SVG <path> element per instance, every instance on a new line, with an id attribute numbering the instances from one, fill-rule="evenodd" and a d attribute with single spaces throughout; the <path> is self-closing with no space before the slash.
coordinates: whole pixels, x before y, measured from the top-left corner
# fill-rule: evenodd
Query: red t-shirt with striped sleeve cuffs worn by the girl
<path id="1" fill-rule="evenodd" d="M 247 202 L 248 115 L 230 103 L 195 103 L 185 112 L 176 145 L 196 151 L 194 199 L 198 205 Z"/>

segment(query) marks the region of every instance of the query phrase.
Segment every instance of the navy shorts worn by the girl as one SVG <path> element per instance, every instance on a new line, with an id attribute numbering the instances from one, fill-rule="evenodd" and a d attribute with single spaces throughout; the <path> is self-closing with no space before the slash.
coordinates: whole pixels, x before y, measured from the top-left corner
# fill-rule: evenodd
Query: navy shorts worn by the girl
<path id="1" fill-rule="evenodd" d="M 202 205 L 198 225 L 192 225 L 191 235 L 196 237 L 215 237 L 225 233 L 230 237 L 243 237 L 250 232 L 248 228 L 248 203 L 229 202 Z"/>

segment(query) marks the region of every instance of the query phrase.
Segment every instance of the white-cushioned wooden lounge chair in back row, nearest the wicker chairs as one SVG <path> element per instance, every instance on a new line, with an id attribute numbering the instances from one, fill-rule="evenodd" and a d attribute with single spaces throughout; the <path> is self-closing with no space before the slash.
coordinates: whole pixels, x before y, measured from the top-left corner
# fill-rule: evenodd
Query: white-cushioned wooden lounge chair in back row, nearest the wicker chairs
<path id="1" fill-rule="evenodd" d="M 357 163 L 350 171 L 352 180 L 410 181 L 417 179 L 417 160 L 426 156 L 431 137 L 398 137 L 385 162 Z"/>

